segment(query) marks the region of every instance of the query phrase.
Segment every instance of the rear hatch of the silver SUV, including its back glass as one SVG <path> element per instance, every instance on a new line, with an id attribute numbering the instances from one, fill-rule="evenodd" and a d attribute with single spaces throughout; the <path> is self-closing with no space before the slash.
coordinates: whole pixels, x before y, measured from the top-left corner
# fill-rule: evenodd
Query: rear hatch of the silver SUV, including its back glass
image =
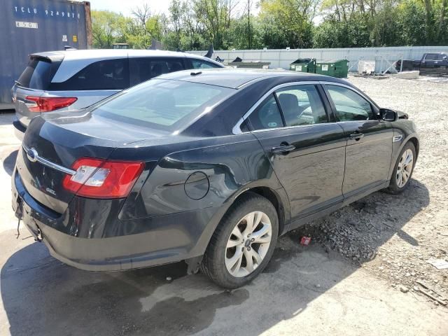
<path id="1" fill-rule="evenodd" d="M 25 71 L 15 81 L 12 89 L 15 115 L 25 127 L 29 125 L 31 118 L 40 114 L 36 109 L 36 99 L 30 100 L 29 97 L 42 97 L 45 90 L 48 90 L 62 59 L 64 54 L 61 52 L 45 52 L 45 56 L 30 55 Z"/>

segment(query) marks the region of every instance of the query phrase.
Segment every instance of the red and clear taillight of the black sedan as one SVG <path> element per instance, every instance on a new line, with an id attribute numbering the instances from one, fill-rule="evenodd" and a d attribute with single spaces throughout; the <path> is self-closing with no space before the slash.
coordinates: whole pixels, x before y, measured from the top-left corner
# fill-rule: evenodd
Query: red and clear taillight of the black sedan
<path id="1" fill-rule="evenodd" d="M 123 198 L 129 195 L 144 163 L 81 158 L 72 169 L 76 173 L 65 176 L 63 182 L 71 193 L 90 198 Z"/>

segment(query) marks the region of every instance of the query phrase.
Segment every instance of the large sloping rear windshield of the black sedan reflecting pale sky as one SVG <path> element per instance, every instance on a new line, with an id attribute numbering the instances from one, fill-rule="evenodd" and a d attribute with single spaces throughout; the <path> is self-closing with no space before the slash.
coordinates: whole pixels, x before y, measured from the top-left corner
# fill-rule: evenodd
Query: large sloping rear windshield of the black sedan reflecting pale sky
<path id="1" fill-rule="evenodd" d="M 181 80 L 152 79 L 93 106 L 93 113 L 125 123 L 179 130 L 235 90 Z"/>

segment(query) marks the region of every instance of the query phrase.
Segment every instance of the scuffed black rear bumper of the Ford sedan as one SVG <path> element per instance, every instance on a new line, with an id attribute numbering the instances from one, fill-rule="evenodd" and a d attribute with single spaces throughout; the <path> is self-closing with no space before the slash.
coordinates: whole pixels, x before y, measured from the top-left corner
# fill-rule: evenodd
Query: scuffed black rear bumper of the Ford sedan
<path id="1" fill-rule="evenodd" d="M 215 208 L 208 208 L 139 220 L 144 221 L 147 227 L 144 232 L 137 234 L 78 237 L 79 232 L 73 230 L 71 234 L 62 232 L 67 214 L 56 214 L 36 202 L 23 187 L 17 172 L 13 175 L 12 189 L 13 209 L 16 216 L 22 214 L 22 221 L 29 232 L 37 240 L 42 239 L 53 257 L 67 265 L 89 271 L 151 267 L 202 255 L 208 244 L 208 240 L 202 236 L 216 211 Z M 22 207 L 22 211 L 17 211 L 18 207 Z M 103 217 L 110 221 L 110 216 Z M 79 223 L 80 226 L 83 224 L 93 225 Z M 139 225 L 118 220 L 103 224 Z M 82 232 L 81 228 L 79 231 Z"/>

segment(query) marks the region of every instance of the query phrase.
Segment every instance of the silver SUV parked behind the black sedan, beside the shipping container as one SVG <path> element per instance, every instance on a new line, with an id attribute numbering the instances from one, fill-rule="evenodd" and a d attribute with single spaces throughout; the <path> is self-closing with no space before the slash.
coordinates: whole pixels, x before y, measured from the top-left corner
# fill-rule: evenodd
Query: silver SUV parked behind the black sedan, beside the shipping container
<path id="1" fill-rule="evenodd" d="M 40 113 L 77 110 L 127 87 L 183 69 L 221 68 L 207 57 L 161 50 L 65 50 L 29 55 L 12 88 L 15 135 Z"/>

